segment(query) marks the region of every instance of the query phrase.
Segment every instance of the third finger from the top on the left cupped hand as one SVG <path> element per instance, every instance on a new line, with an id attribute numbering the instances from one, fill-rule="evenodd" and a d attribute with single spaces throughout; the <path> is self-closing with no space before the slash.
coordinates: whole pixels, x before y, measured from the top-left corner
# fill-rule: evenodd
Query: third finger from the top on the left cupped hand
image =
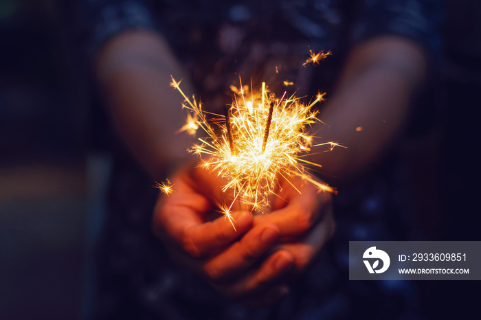
<path id="1" fill-rule="evenodd" d="M 260 268 L 246 275 L 236 283 L 226 287 L 223 291 L 230 299 L 239 300 L 253 297 L 258 293 L 265 292 L 289 271 L 294 264 L 294 258 L 288 251 L 277 251 L 273 253 Z"/>

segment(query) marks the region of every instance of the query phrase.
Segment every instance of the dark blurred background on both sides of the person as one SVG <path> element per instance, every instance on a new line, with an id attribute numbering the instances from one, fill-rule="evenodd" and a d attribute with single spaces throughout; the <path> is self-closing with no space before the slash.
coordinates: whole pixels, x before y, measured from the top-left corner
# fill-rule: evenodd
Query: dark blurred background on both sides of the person
<path id="1" fill-rule="evenodd" d="M 82 306 L 86 208 L 96 188 L 85 149 L 89 95 L 57 2 L 0 0 L 2 320 L 77 319 Z M 432 237 L 481 240 L 480 1 L 449 1 L 444 30 L 434 126 L 405 150 L 411 192 Z M 474 308 L 471 290 L 479 289 L 476 282 L 437 282 L 426 310 Z M 449 310 L 428 316 L 445 319 Z"/>

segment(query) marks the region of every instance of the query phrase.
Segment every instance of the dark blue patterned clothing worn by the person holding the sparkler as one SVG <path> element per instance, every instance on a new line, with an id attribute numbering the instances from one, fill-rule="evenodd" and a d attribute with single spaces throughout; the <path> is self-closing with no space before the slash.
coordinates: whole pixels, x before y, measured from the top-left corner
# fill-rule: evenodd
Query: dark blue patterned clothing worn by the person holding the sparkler
<path id="1" fill-rule="evenodd" d="M 92 56 L 111 36 L 163 34 L 190 72 L 203 104 L 229 102 L 238 78 L 254 87 L 294 82 L 298 95 L 332 92 L 349 50 L 383 35 L 409 38 L 438 61 L 443 1 L 434 0 L 84 0 L 80 43 Z M 302 66 L 331 50 L 320 66 Z M 161 85 L 161 84 L 159 84 Z M 168 85 L 168 84 L 166 84 Z M 102 131 L 95 139 L 105 136 Z M 108 140 L 108 139 L 107 139 Z M 96 290 L 89 319 L 422 319 L 414 282 L 349 282 L 349 240 L 417 238 L 405 170 L 388 157 L 370 179 L 335 198 L 336 235 L 279 304 L 247 310 L 173 264 L 153 236 L 157 192 L 135 161 L 110 144 L 114 165 L 107 213 L 96 245 Z"/>

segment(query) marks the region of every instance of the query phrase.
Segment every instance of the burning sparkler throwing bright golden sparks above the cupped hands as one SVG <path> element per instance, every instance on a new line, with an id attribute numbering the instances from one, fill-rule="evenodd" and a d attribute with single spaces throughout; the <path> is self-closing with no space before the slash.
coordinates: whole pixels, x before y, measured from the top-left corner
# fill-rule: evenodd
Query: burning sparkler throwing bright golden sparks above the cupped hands
<path id="1" fill-rule="evenodd" d="M 319 93 L 306 105 L 295 95 L 287 97 L 286 92 L 282 97 L 276 97 L 265 82 L 258 93 L 250 92 L 249 87 L 243 87 L 241 80 L 239 82 L 239 88 L 231 87 L 234 101 L 225 107 L 225 115 L 204 111 L 200 102 L 194 97 L 190 100 L 183 93 L 180 82 L 173 77 L 171 82 L 186 100 L 183 107 L 193 114 L 189 115 L 188 123 L 181 130 L 192 133 L 201 128 L 208 135 L 199 138 L 200 143 L 190 151 L 208 155 L 208 159 L 201 157 L 201 166 L 226 179 L 222 191 L 232 190 L 234 201 L 259 212 L 267 211 L 269 198 L 280 190 L 280 179 L 290 183 L 298 192 L 291 183 L 295 176 L 313 183 L 320 191 L 335 193 L 333 187 L 320 183 L 308 171 L 308 168 L 322 165 L 304 159 L 306 152 L 313 147 L 330 145 L 332 149 L 340 146 L 334 142 L 313 145 L 315 137 L 306 133 L 308 126 L 320 122 L 313 106 L 324 100 L 324 93 Z M 208 116 L 217 119 L 210 120 Z M 234 201 L 230 206 L 219 204 L 231 223 Z"/>

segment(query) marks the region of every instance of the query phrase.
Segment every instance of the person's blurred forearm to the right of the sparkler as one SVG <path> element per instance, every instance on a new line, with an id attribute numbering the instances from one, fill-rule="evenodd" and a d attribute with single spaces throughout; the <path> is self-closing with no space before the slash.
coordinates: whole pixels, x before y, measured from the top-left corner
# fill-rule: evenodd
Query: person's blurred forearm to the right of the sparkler
<path id="1" fill-rule="evenodd" d="M 347 148 L 317 155 L 324 179 L 340 185 L 376 163 L 399 134 L 425 76 L 423 52 L 401 38 L 377 38 L 348 58 L 318 134 Z"/>

